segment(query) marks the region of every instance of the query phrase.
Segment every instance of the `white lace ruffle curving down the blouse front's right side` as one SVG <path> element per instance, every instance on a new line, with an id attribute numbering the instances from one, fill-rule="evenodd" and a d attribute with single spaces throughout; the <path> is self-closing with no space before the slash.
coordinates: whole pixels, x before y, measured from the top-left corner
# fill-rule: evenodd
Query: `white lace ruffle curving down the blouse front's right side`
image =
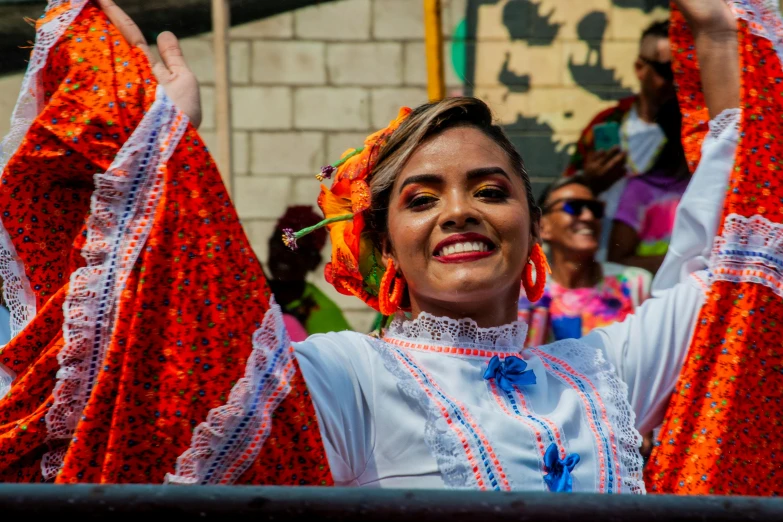
<path id="1" fill-rule="evenodd" d="M 644 462 L 639 453 L 642 437 L 634 428 L 636 413 L 628 402 L 628 385 L 617 376 L 614 366 L 606 360 L 603 352 L 577 339 L 566 339 L 537 348 L 533 353 L 544 361 L 547 356 L 562 360 L 574 371 L 592 381 L 609 419 L 607 428 L 615 439 L 610 439 L 610 443 L 617 448 L 620 464 L 618 485 L 622 484 L 620 491 L 645 493 L 642 476 Z M 559 379 L 557 375 L 553 377 Z M 563 384 L 571 387 L 566 382 Z M 599 472 L 599 467 L 596 466 L 596 485 L 599 483 Z"/>

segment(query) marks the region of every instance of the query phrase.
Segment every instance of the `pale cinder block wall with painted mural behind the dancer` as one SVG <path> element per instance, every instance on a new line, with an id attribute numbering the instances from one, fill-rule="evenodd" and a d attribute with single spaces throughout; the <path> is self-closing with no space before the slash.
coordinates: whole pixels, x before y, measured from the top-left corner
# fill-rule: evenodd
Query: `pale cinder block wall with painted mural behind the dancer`
<path id="1" fill-rule="evenodd" d="M 590 117 L 635 88 L 637 40 L 665 0 L 443 0 L 450 94 L 486 99 L 537 187 L 557 176 Z M 260 259 L 287 205 L 314 204 L 319 168 L 427 101 L 422 0 L 337 0 L 231 30 L 234 201 Z M 215 139 L 210 35 L 184 51 Z M 21 75 L 0 78 L 0 132 Z M 324 254 L 327 254 L 325 251 Z M 336 294 L 355 329 L 372 312 Z"/>

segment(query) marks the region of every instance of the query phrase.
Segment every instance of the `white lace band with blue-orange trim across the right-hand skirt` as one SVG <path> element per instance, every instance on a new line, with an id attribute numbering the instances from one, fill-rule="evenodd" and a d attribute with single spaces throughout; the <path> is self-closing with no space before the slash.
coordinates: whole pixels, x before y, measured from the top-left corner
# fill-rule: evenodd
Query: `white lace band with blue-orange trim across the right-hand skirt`
<path id="1" fill-rule="evenodd" d="M 764 285 L 783 297 L 783 224 L 729 214 L 715 238 L 710 279 Z"/>

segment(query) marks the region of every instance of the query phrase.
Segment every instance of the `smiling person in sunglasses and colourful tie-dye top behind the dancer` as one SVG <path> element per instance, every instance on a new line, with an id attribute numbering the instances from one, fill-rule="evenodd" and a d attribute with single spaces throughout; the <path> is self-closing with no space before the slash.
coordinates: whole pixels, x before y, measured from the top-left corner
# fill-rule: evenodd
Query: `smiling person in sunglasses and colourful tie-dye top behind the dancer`
<path id="1" fill-rule="evenodd" d="M 519 318 L 530 325 L 527 346 L 577 339 L 624 320 L 647 299 L 649 272 L 596 260 L 604 203 L 595 198 L 587 180 L 575 176 L 556 181 L 538 205 L 552 277 L 538 302 L 521 294 Z"/>

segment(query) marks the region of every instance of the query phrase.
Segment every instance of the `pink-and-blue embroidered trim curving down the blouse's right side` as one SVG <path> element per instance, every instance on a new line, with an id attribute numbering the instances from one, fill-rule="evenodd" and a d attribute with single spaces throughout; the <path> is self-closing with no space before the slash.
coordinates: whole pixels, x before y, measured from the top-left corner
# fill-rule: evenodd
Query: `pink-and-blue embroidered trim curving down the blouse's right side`
<path id="1" fill-rule="evenodd" d="M 621 477 L 621 470 L 620 470 L 620 459 L 617 455 L 617 440 L 614 434 L 614 431 L 612 430 L 612 425 L 609 422 L 609 417 L 606 414 L 606 407 L 604 406 L 603 401 L 601 400 L 601 396 L 598 393 L 598 390 L 593 385 L 592 381 L 588 379 L 586 376 L 580 374 L 576 370 L 574 370 L 568 363 L 565 361 L 558 359 L 556 357 L 553 357 L 549 355 L 548 353 L 545 353 L 541 350 L 534 350 L 534 353 L 538 355 L 541 358 L 541 362 L 546 367 L 547 371 L 551 372 L 553 375 L 560 378 L 563 382 L 567 383 L 574 391 L 576 391 L 579 398 L 582 400 L 582 403 L 584 405 L 585 414 L 587 415 L 587 422 L 590 426 L 590 430 L 593 432 L 593 435 L 595 436 L 596 440 L 596 448 L 598 450 L 599 458 L 599 481 L 598 481 L 598 492 L 603 493 L 606 491 L 606 453 L 604 451 L 604 445 L 603 445 L 603 436 L 598 432 L 598 429 L 596 428 L 596 423 L 603 421 L 603 425 L 606 427 L 606 430 L 609 435 L 609 444 L 612 449 L 612 459 L 615 463 L 615 476 L 617 479 L 615 480 L 615 483 L 617 484 L 617 492 L 620 493 L 622 481 L 619 480 Z M 574 382 L 574 380 L 571 378 L 571 375 L 568 375 L 566 373 L 560 372 L 558 370 L 555 370 L 551 364 L 549 364 L 549 361 L 557 364 L 561 368 L 563 368 L 566 372 L 569 374 L 579 378 L 582 382 L 587 383 L 587 385 L 590 387 L 590 389 L 593 391 L 592 398 L 595 401 L 598 409 L 600 410 L 601 419 L 600 421 L 596 420 L 595 416 L 593 415 L 592 407 L 588 401 L 588 397 L 585 395 L 584 392 L 582 392 L 579 389 L 579 386 Z"/>

